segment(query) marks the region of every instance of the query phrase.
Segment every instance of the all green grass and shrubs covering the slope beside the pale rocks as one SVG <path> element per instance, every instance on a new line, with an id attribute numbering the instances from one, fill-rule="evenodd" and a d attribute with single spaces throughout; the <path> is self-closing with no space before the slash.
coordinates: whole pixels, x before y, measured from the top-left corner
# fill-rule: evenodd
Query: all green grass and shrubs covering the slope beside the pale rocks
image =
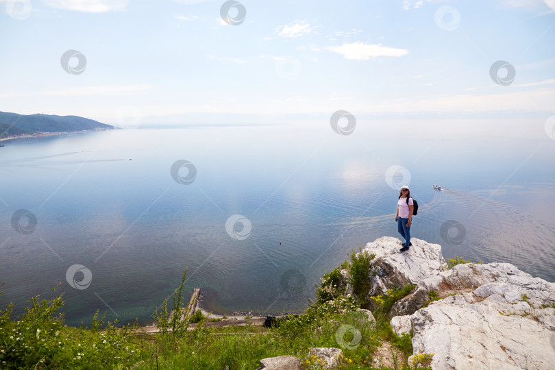
<path id="1" fill-rule="evenodd" d="M 343 264 L 351 275 L 354 290 L 364 295 L 368 279 L 362 267 L 373 256 L 351 254 L 351 262 Z M 90 328 L 69 328 L 58 310 L 62 295 L 51 299 L 33 297 L 22 317 L 12 321 L 13 305 L 0 310 L 1 369 L 256 369 L 260 359 L 275 356 L 297 356 L 306 369 L 318 369 L 308 356 L 312 347 L 343 349 L 338 369 L 378 369 L 372 367 L 373 353 L 382 341 L 389 341 L 406 357 L 412 354 L 410 334 L 397 336 L 388 323 L 387 313 L 393 303 L 414 286 L 404 286 L 380 297 L 375 307 L 375 325 L 364 312 L 357 311 L 362 300 L 345 294 L 339 284 L 341 273 L 334 269 L 325 274 L 317 289 L 317 301 L 303 314 L 279 321 L 276 328 L 234 326 L 211 328 L 200 311 L 181 321 L 182 288 L 175 290 L 169 310 L 164 301 L 155 317 L 160 332 L 149 340 L 133 335 L 138 327 L 106 323 L 97 312 Z M 56 291 L 56 288 L 53 290 Z M 367 294 L 367 291 L 366 291 Z M 168 311 L 170 314 L 168 314 Z M 216 319 L 217 321 L 218 319 Z M 214 320 L 211 320 L 214 321 Z M 197 322 L 193 330 L 188 324 Z M 423 364 L 428 357 L 421 359 Z M 395 369 L 409 369 L 395 358 Z M 415 367 L 410 367 L 415 368 Z M 385 368 L 382 368 L 385 369 Z"/>

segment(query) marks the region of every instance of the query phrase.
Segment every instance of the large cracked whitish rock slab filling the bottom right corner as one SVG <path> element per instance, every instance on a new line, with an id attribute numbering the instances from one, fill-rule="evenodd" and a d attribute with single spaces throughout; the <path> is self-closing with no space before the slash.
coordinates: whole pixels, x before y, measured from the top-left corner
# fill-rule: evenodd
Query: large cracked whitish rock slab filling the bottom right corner
<path id="1" fill-rule="evenodd" d="M 410 315 L 414 354 L 434 353 L 432 369 L 554 369 L 553 308 L 481 299 L 457 294 Z"/>

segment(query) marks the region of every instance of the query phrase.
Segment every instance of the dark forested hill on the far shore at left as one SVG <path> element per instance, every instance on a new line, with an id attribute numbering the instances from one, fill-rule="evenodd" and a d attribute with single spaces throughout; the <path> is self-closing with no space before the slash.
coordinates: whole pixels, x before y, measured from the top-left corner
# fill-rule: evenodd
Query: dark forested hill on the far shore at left
<path id="1" fill-rule="evenodd" d="M 75 132 L 84 130 L 111 130 L 92 119 L 79 116 L 51 116 L 49 114 L 17 114 L 0 112 L 0 138 L 33 135 L 39 132 Z"/>

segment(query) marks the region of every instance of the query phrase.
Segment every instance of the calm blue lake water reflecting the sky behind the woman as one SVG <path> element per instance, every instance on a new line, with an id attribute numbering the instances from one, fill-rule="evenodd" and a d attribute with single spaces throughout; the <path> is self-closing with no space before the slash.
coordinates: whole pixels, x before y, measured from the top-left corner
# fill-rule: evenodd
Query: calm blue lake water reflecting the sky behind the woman
<path id="1" fill-rule="evenodd" d="M 445 258 L 511 262 L 555 281 L 555 140 L 443 135 L 447 122 L 437 134 L 397 130 L 416 124 L 359 123 L 349 136 L 329 124 L 234 125 L 7 142 L 0 304 L 21 313 L 61 282 L 70 325 L 88 325 L 97 309 L 151 323 L 188 268 L 186 299 L 200 287 L 214 312 L 300 312 L 349 250 L 398 236 L 397 189 L 409 180 L 420 205 L 413 237 L 441 244 Z"/>

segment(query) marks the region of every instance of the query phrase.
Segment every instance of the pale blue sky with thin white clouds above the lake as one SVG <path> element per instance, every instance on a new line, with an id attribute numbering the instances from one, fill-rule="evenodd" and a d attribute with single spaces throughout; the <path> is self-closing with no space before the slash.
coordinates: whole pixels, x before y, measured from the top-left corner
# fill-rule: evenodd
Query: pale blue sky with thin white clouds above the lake
<path id="1" fill-rule="evenodd" d="M 237 25 L 224 3 L 0 0 L 0 110 L 106 123 L 555 110 L 555 0 L 240 1 Z M 62 67 L 68 50 L 86 62 Z M 499 60 L 515 71 L 505 85 Z"/>

